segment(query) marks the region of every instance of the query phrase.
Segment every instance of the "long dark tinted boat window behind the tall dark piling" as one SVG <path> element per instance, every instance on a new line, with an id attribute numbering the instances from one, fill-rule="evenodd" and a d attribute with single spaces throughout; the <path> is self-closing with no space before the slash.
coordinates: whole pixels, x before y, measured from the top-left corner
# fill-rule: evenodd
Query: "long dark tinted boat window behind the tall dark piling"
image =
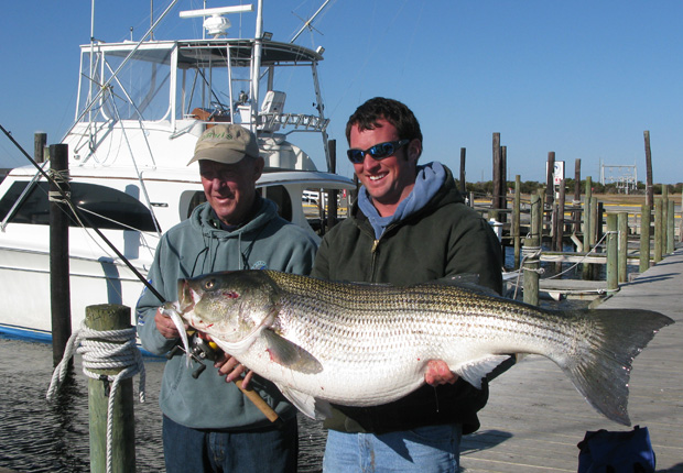
<path id="1" fill-rule="evenodd" d="M 0 200 L 0 220 L 3 220 L 29 182 L 17 182 Z M 110 187 L 72 183 L 72 201 L 87 211 L 91 227 L 109 230 L 156 231 L 150 210 L 140 200 Z M 24 197 L 23 204 L 10 218 L 10 223 L 50 224 L 50 184 L 37 183 Z M 72 216 L 73 217 L 73 216 Z M 75 218 L 69 227 L 80 227 Z"/>

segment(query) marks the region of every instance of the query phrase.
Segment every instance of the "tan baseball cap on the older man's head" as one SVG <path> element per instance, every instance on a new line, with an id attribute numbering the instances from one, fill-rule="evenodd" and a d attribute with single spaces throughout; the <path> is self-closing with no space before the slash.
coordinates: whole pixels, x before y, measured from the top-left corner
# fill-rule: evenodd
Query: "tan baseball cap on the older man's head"
<path id="1" fill-rule="evenodd" d="M 238 124 L 217 124 L 202 133 L 195 145 L 195 155 L 187 164 L 198 160 L 235 164 L 245 156 L 259 157 L 254 134 Z"/>

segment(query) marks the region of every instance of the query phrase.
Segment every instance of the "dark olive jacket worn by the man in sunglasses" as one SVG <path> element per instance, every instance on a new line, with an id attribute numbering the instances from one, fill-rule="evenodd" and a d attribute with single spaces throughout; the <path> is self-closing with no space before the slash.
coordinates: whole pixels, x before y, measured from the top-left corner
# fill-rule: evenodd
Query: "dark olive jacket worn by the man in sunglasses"
<path id="1" fill-rule="evenodd" d="M 465 205 L 451 170 L 444 169 L 445 182 L 435 195 L 413 213 L 390 223 L 380 238 L 376 238 L 356 202 L 350 217 L 323 239 L 311 275 L 329 280 L 411 285 L 456 274 L 477 274 L 481 286 L 500 294 L 500 243 L 488 222 Z M 479 428 L 477 411 L 487 399 L 486 383 L 481 389 L 463 380 L 436 388 L 424 385 L 382 406 L 336 406 L 338 410 L 325 421 L 325 427 L 382 433 L 462 424 L 463 432 L 469 433 Z"/>

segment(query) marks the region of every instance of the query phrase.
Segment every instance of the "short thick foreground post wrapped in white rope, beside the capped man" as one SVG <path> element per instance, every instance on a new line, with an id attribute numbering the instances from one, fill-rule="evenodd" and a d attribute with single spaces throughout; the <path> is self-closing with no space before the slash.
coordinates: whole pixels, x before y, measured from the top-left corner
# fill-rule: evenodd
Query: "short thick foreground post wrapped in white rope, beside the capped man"
<path id="1" fill-rule="evenodd" d="M 116 304 L 86 307 L 85 323 L 90 330 L 124 330 L 130 324 L 130 308 Z M 115 342 L 108 342 L 115 343 Z M 122 342 L 121 342 L 122 343 Z M 116 375 L 122 369 L 91 370 L 104 376 Z M 90 471 L 107 471 L 107 410 L 109 383 L 88 378 L 88 410 L 90 420 Z M 135 471 L 135 421 L 133 414 L 133 381 L 121 380 L 113 399 L 111 438 L 111 471 Z"/>

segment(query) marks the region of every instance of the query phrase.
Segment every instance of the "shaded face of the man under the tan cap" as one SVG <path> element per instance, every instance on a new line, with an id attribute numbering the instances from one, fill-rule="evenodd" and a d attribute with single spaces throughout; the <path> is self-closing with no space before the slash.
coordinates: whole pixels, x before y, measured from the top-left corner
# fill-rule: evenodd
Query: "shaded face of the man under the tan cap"
<path id="1" fill-rule="evenodd" d="M 243 157 L 235 164 L 199 160 L 199 174 L 206 200 L 227 226 L 240 224 L 249 216 L 256 198 L 256 182 L 263 170 L 263 158 Z"/>

